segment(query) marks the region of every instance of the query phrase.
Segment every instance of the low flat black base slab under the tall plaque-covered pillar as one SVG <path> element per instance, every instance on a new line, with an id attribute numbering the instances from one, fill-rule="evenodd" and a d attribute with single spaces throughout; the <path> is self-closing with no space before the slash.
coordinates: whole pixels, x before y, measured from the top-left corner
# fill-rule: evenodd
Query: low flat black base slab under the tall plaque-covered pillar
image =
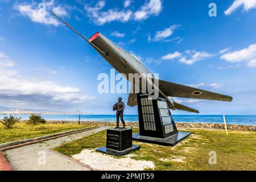
<path id="1" fill-rule="evenodd" d="M 154 143 L 160 144 L 162 146 L 172 146 L 174 147 L 176 144 L 181 142 L 181 140 L 189 137 L 191 133 L 179 131 L 179 133 L 172 135 L 168 138 L 154 138 L 154 137 L 145 137 L 139 135 L 139 133 L 133 134 L 133 140 L 138 142 L 145 142 L 145 143 Z"/>

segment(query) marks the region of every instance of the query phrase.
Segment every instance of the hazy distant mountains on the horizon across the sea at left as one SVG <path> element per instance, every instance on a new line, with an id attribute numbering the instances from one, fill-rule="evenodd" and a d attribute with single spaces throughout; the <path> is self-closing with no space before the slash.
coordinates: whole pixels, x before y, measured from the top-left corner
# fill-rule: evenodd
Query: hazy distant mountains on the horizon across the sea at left
<path id="1" fill-rule="evenodd" d="M 43 109 L 16 109 L 10 107 L 0 106 L 0 114 L 47 114 L 47 115 L 56 115 L 56 114 L 89 114 L 84 113 L 79 110 L 73 110 L 71 112 L 64 112 L 64 111 L 49 111 Z"/>

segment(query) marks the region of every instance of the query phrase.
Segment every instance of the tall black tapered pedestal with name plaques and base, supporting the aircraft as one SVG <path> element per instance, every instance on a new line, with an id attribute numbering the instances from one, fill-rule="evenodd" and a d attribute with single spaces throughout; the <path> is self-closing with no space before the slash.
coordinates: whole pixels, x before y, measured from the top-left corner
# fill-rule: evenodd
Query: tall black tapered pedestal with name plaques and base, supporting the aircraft
<path id="1" fill-rule="evenodd" d="M 137 100 L 139 133 L 133 135 L 133 140 L 174 146 L 191 135 L 177 131 L 166 99 L 152 100 L 150 94 L 137 94 Z"/>

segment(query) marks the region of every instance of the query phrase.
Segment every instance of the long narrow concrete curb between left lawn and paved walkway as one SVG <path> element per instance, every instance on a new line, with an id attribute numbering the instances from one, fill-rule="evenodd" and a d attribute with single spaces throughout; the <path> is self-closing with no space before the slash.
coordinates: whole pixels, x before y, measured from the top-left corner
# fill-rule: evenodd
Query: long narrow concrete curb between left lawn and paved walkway
<path id="1" fill-rule="evenodd" d="M 42 137 L 36 137 L 36 138 L 23 139 L 23 140 L 17 140 L 17 141 L 14 141 L 14 142 L 3 143 L 3 144 L 0 144 L 0 151 L 5 151 L 5 150 L 9 150 L 11 148 L 17 148 L 17 147 L 21 147 L 21 146 L 26 146 L 28 144 L 43 142 L 45 140 L 49 140 L 49 139 L 53 139 L 53 138 L 64 137 L 66 135 L 81 133 L 82 131 L 88 131 L 88 130 L 93 130 L 93 129 L 97 129 L 97 128 L 98 128 L 98 126 L 94 126 L 94 127 L 88 127 L 88 128 L 85 128 L 85 129 L 64 131 L 64 132 L 61 132 L 61 133 L 56 133 L 56 134 L 51 134 L 51 135 L 44 135 Z"/>

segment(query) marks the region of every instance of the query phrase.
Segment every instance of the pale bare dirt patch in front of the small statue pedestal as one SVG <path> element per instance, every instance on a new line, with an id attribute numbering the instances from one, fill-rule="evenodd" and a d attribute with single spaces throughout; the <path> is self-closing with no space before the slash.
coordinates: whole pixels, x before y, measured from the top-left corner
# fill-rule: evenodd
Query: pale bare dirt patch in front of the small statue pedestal
<path id="1" fill-rule="evenodd" d="M 82 150 L 80 154 L 73 155 L 72 157 L 100 171 L 142 171 L 146 168 L 155 167 L 151 161 L 134 160 L 130 156 L 119 159 L 95 152 L 95 150 Z"/>

